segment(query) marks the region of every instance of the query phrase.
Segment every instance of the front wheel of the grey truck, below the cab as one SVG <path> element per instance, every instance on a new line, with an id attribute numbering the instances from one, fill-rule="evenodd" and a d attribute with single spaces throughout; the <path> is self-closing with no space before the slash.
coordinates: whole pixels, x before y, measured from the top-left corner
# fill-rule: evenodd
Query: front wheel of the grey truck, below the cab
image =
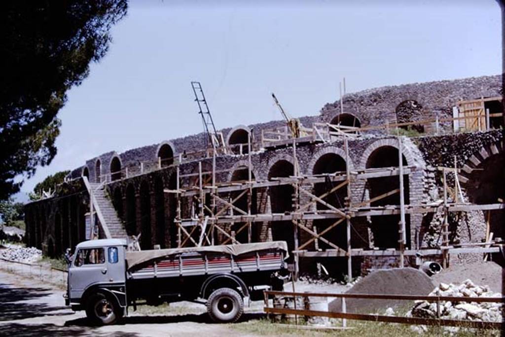
<path id="1" fill-rule="evenodd" d="M 116 301 L 97 293 L 91 295 L 87 302 L 86 316 L 93 324 L 109 325 L 114 324 L 122 315 Z"/>

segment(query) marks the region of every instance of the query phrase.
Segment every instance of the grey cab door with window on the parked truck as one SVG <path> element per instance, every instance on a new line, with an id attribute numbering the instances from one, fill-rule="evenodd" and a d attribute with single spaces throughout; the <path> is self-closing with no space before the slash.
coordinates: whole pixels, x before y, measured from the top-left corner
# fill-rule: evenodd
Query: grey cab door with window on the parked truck
<path id="1" fill-rule="evenodd" d="M 80 299 L 89 285 L 107 282 L 105 248 L 81 248 L 68 271 L 70 299 Z"/>

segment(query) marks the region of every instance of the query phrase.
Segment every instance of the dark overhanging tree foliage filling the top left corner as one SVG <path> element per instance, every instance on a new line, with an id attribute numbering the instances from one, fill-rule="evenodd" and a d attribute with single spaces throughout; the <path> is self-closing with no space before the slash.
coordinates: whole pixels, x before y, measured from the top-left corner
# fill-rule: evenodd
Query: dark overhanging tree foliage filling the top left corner
<path id="1" fill-rule="evenodd" d="M 127 0 L 0 3 L 0 200 L 51 163 L 67 91 L 105 56 Z"/>

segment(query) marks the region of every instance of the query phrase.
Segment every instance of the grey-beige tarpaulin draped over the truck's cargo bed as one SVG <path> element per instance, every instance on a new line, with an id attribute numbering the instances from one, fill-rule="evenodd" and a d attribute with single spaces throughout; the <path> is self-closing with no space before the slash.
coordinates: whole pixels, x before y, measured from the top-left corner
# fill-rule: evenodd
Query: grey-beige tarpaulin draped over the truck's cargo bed
<path id="1" fill-rule="evenodd" d="M 168 257 L 180 253 L 223 253 L 233 256 L 241 254 L 264 251 L 269 249 L 279 249 L 284 251 L 284 258 L 289 256 L 287 244 L 284 241 L 261 242 L 255 244 L 240 244 L 240 245 L 222 245 L 222 246 L 205 246 L 205 247 L 185 247 L 174 249 L 158 249 L 138 252 L 126 252 L 126 262 L 128 268 L 133 268 L 143 262 Z"/>

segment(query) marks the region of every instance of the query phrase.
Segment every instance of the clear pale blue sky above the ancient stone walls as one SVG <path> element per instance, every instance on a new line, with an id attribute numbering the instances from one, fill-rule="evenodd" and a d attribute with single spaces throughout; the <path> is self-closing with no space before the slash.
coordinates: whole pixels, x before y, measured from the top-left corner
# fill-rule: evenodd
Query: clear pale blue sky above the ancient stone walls
<path id="1" fill-rule="evenodd" d="M 192 80 L 224 128 L 280 119 L 272 91 L 305 116 L 338 99 L 343 77 L 351 92 L 501 73 L 494 0 L 132 1 L 112 37 L 68 94 L 57 156 L 23 193 L 99 154 L 203 131 Z"/>

